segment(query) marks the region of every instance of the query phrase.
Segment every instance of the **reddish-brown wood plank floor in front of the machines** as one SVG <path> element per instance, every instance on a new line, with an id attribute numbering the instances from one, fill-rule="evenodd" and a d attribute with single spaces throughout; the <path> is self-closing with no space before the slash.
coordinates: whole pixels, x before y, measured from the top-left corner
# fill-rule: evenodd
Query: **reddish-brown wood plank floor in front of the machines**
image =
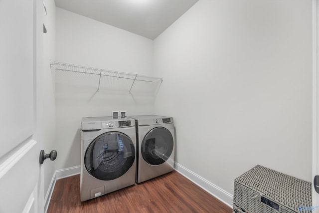
<path id="1" fill-rule="evenodd" d="M 80 175 L 56 182 L 47 213 L 232 213 L 176 171 L 80 201 Z"/>

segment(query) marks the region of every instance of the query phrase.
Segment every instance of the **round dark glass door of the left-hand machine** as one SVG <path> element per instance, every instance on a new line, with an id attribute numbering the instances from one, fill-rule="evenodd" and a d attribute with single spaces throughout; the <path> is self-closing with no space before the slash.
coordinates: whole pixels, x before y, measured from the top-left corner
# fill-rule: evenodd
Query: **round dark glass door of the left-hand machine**
<path id="1" fill-rule="evenodd" d="M 93 177 L 110 181 L 126 173 L 134 160 L 132 140 L 120 132 L 107 132 L 90 143 L 85 152 L 84 165 Z"/>

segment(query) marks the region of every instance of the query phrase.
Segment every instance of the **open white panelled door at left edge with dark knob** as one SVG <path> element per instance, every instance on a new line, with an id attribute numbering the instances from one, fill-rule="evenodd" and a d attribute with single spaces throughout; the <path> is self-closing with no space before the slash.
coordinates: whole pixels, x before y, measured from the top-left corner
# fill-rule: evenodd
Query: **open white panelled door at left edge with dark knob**
<path id="1" fill-rule="evenodd" d="M 0 0 L 0 213 L 43 212 L 42 9 Z"/>

